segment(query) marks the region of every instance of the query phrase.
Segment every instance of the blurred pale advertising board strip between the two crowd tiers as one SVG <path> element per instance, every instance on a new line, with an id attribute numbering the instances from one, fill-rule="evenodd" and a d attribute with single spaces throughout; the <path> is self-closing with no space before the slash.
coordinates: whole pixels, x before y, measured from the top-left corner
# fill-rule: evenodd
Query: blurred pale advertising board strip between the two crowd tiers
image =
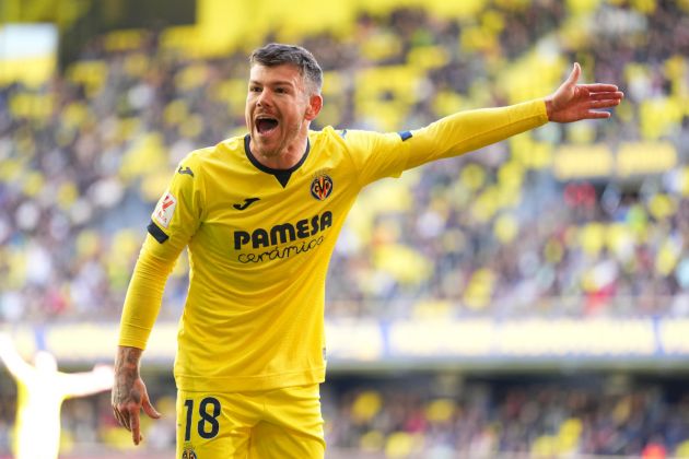
<path id="1" fill-rule="evenodd" d="M 327 321 L 326 327 L 328 366 L 334 370 L 689 368 L 689 318 L 369 318 Z M 0 328 L 26 358 L 46 349 L 61 364 L 77 366 L 109 362 L 117 330 L 116 323 Z M 175 322 L 157 323 L 144 354 L 147 362 L 171 365 L 176 334 Z"/>

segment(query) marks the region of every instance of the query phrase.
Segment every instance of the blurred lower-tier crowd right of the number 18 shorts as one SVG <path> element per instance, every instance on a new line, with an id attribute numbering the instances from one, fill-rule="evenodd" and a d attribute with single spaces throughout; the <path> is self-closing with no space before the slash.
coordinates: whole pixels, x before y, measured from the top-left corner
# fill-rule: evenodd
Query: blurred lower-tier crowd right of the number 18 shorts
<path id="1" fill-rule="evenodd" d="M 328 445 L 390 458 L 689 457 L 685 388 L 607 379 L 436 375 L 347 389 L 331 380 Z"/>

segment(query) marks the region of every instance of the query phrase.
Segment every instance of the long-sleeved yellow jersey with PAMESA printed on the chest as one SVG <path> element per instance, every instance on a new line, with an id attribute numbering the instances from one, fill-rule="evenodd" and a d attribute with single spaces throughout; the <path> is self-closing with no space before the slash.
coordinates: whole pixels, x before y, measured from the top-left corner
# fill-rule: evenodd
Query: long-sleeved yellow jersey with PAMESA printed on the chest
<path id="1" fill-rule="evenodd" d="M 547 122 L 544 101 L 464 111 L 404 132 L 310 131 L 290 169 L 236 137 L 184 158 L 159 201 L 127 292 L 119 344 L 145 349 L 185 246 L 189 291 L 175 379 L 187 391 L 245 391 L 325 379 L 325 281 L 358 193 L 382 177 Z"/>

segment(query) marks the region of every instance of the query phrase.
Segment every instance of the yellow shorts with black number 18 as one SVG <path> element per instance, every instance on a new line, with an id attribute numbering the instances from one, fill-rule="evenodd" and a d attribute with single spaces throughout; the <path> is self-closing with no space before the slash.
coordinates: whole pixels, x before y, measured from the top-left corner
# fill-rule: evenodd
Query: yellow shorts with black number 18
<path id="1" fill-rule="evenodd" d="M 324 456 L 317 384 L 255 392 L 177 392 L 178 459 Z"/>

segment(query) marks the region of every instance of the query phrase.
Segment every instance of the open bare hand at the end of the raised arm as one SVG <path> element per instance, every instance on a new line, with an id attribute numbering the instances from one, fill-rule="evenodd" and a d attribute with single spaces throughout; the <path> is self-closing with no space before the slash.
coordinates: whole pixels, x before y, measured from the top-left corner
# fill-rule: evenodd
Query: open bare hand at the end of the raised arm
<path id="1" fill-rule="evenodd" d="M 581 119 L 609 118 L 612 108 L 624 94 L 615 84 L 576 84 L 582 69 L 574 63 L 572 73 L 558 90 L 546 97 L 548 119 L 556 122 L 572 122 Z"/>

